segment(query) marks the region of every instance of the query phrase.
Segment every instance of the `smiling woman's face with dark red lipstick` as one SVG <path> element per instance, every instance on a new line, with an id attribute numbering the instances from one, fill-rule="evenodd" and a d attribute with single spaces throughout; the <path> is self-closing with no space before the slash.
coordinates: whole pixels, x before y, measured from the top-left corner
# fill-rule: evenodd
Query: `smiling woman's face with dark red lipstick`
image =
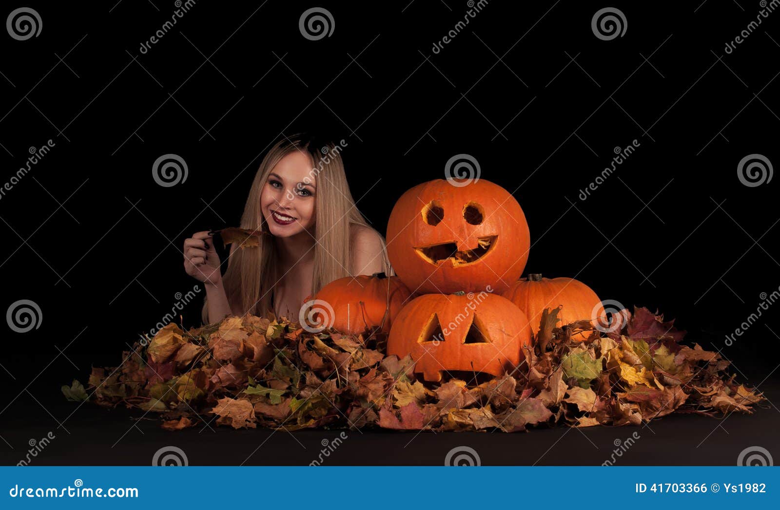
<path id="1" fill-rule="evenodd" d="M 271 234 L 289 237 L 314 227 L 316 186 L 307 154 L 291 152 L 276 164 L 260 194 Z"/>

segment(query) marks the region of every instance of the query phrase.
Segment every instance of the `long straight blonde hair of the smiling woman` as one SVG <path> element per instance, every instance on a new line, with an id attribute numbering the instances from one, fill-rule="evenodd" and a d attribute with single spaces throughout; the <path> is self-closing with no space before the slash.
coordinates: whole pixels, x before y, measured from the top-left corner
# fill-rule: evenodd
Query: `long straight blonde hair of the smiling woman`
<path id="1" fill-rule="evenodd" d="M 344 143 L 346 145 L 346 143 Z M 239 304 L 243 313 L 263 316 L 273 310 L 271 290 L 282 274 L 278 274 L 278 253 L 274 236 L 268 229 L 260 207 L 261 191 L 268 180 L 268 174 L 287 154 L 301 151 L 307 154 L 312 164 L 312 174 L 317 178 L 317 194 L 314 202 L 314 276 L 311 295 L 314 296 L 324 285 L 345 276 L 351 276 L 353 257 L 350 250 L 352 225 L 371 228 L 355 207 L 349 184 L 346 181 L 344 165 L 339 156 L 341 146 L 329 140 L 296 134 L 279 140 L 265 155 L 254 176 L 246 206 L 241 215 L 241 228 L 257 229 L 267 235 L 260 236 L 257 248 L 232 250 L 228 269 L 222 277 L 228 303 Z M 382 244 L 382 271 L 391 275 L 392 267 L 387 257 L 385 238 L 374 228 Z M 203 321 L 207 322 L 207 301 L 204 300 Z M 295 320 L 295 317 L 290 317 Z"/>

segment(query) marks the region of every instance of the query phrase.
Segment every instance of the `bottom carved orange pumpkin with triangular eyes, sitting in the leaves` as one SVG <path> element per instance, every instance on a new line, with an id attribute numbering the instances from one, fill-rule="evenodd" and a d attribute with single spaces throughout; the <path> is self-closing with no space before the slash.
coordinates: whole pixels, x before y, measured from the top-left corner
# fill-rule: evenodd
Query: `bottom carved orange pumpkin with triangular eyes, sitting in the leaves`
<path id="1" fill-rule="evenodd" d="M 393 321 L 388 355 L 410 354 L 415 372 L 426 381 L 441 381 L 442 370 L 512 372 L 530 345 L 530 325 L 509 299 L 484 291 L 425 294 Z"/>

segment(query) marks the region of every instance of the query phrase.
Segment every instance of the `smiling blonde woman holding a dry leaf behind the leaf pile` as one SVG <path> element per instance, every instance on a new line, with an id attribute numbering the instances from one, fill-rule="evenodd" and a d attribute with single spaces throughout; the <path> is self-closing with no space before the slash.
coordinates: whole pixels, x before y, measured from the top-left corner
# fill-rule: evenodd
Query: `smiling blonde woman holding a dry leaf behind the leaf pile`
<path id="1" fill-rule="evenodd" d="M 392 274 L 385 239 L 366 224 L 349 193 L 340 150 L 300 135 L 271 147 L 240 225 L 264 232 L 260 246 L 232 245 L 224 276 L 208 232 L 184 241 L 184 268 L 206 289 L 204 322 L 268 310 L 296 321 L 303 299 L 337 278 Z"/>

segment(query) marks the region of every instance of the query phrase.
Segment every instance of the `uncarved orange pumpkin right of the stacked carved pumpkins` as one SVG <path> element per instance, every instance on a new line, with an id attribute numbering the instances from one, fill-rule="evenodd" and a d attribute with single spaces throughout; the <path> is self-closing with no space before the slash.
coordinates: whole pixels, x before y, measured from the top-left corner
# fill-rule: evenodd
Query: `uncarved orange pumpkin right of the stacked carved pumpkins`
<path id="1" fill-rule="evenodd" d="M 558 326 L 605 315 L 596 292 L 573 278 L 542 278 L 541 274 L 529 274 L 528 278 L 515 282 L 502 296 L 523 310 L 534 332 L 538 331 L 542 310 L 546 308 L 562 306 L 558 312 L 561 319 Z M 586 338 L 583 333 L 572 336 L 576 342 Z"/>

